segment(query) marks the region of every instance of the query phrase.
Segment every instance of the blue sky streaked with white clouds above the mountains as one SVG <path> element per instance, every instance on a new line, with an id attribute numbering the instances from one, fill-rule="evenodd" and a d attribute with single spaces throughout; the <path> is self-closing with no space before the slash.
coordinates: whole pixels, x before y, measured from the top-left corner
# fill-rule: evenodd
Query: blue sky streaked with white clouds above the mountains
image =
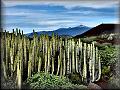
<path id="1" fill-rule="evenodd" d="M 119 0 L 2 0 L 3 29 L 24 33 L 118 23 Z"/>

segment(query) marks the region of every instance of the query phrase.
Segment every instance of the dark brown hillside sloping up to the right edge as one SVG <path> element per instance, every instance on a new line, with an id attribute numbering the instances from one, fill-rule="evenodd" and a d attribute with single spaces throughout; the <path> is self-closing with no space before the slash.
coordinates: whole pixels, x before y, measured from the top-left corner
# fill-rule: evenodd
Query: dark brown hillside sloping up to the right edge
<path id="1" fill-rule="evenodd" d="M 96 27 L 91 28 L 90 30 L 76 35 L 75 38 L 81 38 L 81 37 L 90 37 L 90 36 L 99 36 L 102 34 L 111 34 L 111 33 L 118 33 L 119 29 L 118 27 L 120 24 L 100 24 Z"/>

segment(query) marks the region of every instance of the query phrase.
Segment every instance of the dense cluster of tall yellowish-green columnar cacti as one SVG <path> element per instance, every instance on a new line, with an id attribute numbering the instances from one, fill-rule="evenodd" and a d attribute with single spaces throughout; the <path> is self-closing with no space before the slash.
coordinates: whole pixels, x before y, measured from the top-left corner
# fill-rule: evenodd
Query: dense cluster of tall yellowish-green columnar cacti
<path id="1" fill-rule="evenodd" d="M 18 88 L 24 80 L 41 71 L 59 76 L 79 73 L 83 82 L 100 79 L 101 62 L 94 42 L 87 44 L 80 38 L 66 39 L 54 34 L 38 37 L 34 30 L 33 33 L 30 39 L 18 29 L 13 33 L 2 32 L 4 78 L 16 77 Z"/>

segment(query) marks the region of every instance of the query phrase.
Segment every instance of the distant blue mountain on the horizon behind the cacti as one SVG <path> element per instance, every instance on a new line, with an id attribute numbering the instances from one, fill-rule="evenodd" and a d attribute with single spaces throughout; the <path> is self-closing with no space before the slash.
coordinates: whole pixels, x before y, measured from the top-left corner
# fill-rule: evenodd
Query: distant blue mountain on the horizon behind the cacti
<path id="1" fill-rule="evenodd" d="M 77 27 L 69 27 L 69 28 L 59 28 L 54 31 L 39 31 L 36 32 L 37 35 L 39 36 L 40 34 L 48 34 L 49 36 L 52 35 L 52 33 L 57 34 L 59 36 L 76 36 L 78 34 L 82 34 L 85 31 L 91 29 L 90 27 L 84 26 L 84 25 L 79 25 Z M 26 34 L 28 37 L 32 37 L 33 33 L 28 33 Z"/>

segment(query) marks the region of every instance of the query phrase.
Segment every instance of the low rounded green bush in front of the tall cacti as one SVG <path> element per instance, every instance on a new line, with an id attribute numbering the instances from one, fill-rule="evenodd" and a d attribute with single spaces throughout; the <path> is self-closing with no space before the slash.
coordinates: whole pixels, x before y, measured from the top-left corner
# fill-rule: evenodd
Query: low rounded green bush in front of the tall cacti
<path id="1" fill-rule="evenodd" d="M 87 89 L 84 85 L 72 84 L 66 77 L 45 73 L 33 75 L 26 84 L 30 89 Z"/>

